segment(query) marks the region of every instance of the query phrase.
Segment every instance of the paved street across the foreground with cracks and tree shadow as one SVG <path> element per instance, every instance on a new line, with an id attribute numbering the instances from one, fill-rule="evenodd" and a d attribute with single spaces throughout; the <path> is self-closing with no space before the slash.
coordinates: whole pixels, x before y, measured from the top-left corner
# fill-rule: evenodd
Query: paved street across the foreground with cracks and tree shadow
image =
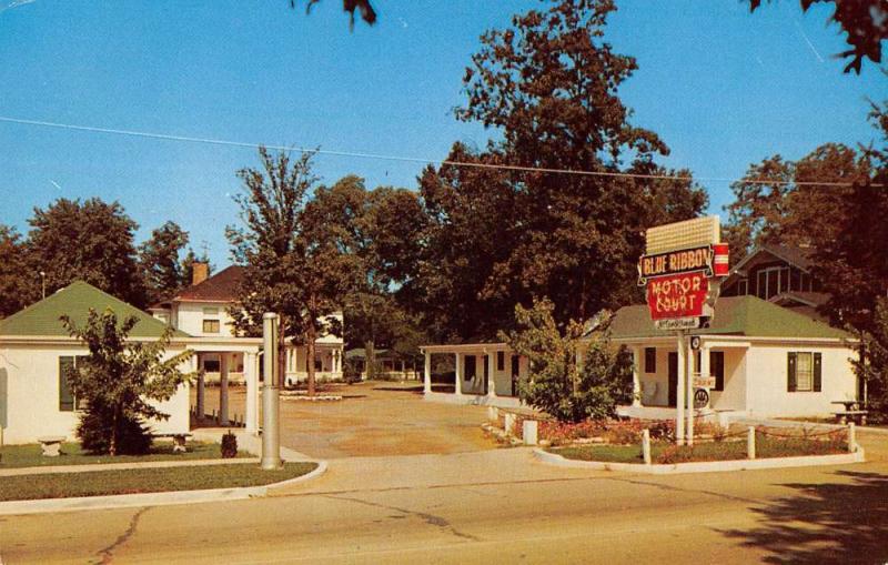
<path id="1" fill-rule="evenodd" d="M 16 563 L 886 563 L 888 435 L 871 462 L 644 476 L 525 450 L 343 458 L 252 501 L 0 518 Z M 364 472 L 364 480 L 360 473 Z"/>

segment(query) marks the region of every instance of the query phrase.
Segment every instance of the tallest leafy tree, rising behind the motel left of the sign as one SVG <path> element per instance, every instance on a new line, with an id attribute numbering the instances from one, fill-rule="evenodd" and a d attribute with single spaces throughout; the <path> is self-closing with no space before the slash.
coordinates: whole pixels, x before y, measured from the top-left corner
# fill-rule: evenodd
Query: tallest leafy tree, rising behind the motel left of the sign
<path id="1" fill-rule="evenodd" d="M 665 206 L 677 215 L 669 220 L 684 220 L 706 200 L 693 183 L 665 190 L 614 176 L 657 171 L 654 157 L 668 152 L 629 122 L 618 97 L 636 62 L 603 39 L 614 2 L 548 4 L 482 36 L 456 115 L 495 130 L 497 141 L 451 153 L 528 170 L 445 164 L 421 180 L 432 225 L 415 294 L 426 309 L 446 309 L 431 326 L 442 339 L 493 337 L 533 296 L 548 296 L 561 324 L 618 305 L 633 289 L 652 203 L 689 203 Z"/>

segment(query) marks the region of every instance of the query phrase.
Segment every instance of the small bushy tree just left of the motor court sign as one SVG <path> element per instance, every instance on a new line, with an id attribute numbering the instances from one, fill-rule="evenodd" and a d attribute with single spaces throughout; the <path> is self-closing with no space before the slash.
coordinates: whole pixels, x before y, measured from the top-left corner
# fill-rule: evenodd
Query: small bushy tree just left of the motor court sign
<path id="1" fill-rule="evenodd" d="M 521 400 L 562 422 L 613 416 L 617 403 L 632 400 L 629 353 L 610 344 L 609 317 L 585 336 L 584 324 L 575 321 L 562 332 L 553 309 L 547 299 L 531 309 L 516 305 L 517 330 L 504 336 L 529 360 L 528 379 L 518 386 Z"/>

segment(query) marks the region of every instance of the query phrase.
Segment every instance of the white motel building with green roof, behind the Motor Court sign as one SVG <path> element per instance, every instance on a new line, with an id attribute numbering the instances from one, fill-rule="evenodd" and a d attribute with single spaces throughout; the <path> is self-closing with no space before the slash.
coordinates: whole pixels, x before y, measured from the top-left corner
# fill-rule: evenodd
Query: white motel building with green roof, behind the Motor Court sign
<path id="1" fill-rule="evenodd" d="M 623 412 L 674 417 L 679 374 L 676 337 L 655 329 L 646 305 L 619 309 L 610 332 L 613 342 L 627 346 L 634 357 L 636 401 Z M 702 413 L 827 416 L 837 410 L 834 402 L 859 397 L 850 335 L 805 314 L 754 295 L 723 297 L 716 302 L 710 326 L 692 333 L 700 337 L 694 372 L 716 379 Z M 515 383 L 527 377 L 527 361 L 514 355 L 507 344 L 425 345 L 421 350 L 427 400 L 521 404 Z M 453 385 L 434 385 L 433 355 L 453 360 Z"/>

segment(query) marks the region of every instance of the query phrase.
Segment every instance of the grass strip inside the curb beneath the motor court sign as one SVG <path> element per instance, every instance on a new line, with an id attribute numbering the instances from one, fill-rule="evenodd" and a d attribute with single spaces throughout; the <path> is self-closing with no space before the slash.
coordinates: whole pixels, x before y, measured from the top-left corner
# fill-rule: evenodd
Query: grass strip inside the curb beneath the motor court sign
<path id="1" fill-rule="evenodd" d="M 643 463 L 640 445 L 584 445 L 557 447 L 552 453 L 568 460 L 601 461 L 605 463 Z M 756 457 L 795 457 L 799 455 L 829 455 L 847 453 L 845 442 L 824 442 L 804 438 L 756 440 Z M 653 443 L 650 458 L 654 463 L 686 463 L 695 461 L 731 461 L 746 458 L 746 442 L 707 442 L 693 447 Z"/>

